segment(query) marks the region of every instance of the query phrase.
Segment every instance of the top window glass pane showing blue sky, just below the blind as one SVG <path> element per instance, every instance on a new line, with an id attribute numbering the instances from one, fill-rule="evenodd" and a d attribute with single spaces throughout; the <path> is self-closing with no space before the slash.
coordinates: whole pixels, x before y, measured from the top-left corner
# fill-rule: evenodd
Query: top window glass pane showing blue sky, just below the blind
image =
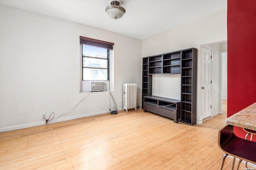
<path id="1" fill-rule="evenodd" d="M 107 58 L 108 49 L 83 45 L 83 56 Z"/>

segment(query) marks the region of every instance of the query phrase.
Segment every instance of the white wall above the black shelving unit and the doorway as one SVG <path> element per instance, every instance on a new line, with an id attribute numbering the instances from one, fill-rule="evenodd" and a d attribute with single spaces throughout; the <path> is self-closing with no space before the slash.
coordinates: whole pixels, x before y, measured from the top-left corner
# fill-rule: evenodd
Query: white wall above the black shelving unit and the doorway
<path id="1" fill-rule="evenodd" d="M 227 11 L 205 16 L 197 21 L 175 27 L 158 35 L 142 40 L 142 57 L 158 55 L 191 47 L 198 49 L 197 111 L 200 111 L 201 59 L 200 45 L 227 39 Z M 162 82 L 168 83 L 169 80 Z M 180 84 L 176 85 L 178 88 Z M 155 87 L 152 87 L 153 90 Z M 158 87 L 159 88 L 159 87 Z M 199 121 L 199 114 L 197 120 Z"/>

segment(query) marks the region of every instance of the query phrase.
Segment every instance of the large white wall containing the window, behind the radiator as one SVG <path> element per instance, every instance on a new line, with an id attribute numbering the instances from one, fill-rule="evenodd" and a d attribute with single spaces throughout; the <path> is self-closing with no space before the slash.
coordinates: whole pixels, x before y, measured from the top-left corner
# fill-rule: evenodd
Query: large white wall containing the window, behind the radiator
<path id="1" fill-rule="evenodd" d="M 94 27 L 0 6 L 0 131 L 43 125 L 75 106 L 80 94 L 79 36 L 114 43 L 114 92 L 136 83 L 141 104 L 141 40 Z M 109 92 L 93 92 L 63 121 L 109 111 Z M 111 106 L 112 107 L 112 106 Z"/>

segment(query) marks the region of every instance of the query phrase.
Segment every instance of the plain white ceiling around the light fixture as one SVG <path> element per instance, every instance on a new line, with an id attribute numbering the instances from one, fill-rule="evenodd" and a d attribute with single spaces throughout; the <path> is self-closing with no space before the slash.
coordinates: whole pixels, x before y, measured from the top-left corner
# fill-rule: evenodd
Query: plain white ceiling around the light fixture
<path id="1" fill-rule="evenodd" d="M 109 0 L 0 0 L 0 4 L 145 39 L 227 9 L 227 0 L 122 0 L 118 20 L 105 12 Z"/>

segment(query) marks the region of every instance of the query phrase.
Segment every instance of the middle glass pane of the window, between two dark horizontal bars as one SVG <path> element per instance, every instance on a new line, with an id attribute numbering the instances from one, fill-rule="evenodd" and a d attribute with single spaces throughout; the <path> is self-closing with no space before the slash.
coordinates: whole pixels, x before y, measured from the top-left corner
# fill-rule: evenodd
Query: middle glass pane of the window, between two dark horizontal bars
<path id="1" fill-rule="evenodd" d="M 108 68 L 108 60 L 83 57 L 83 66 Z"/>

